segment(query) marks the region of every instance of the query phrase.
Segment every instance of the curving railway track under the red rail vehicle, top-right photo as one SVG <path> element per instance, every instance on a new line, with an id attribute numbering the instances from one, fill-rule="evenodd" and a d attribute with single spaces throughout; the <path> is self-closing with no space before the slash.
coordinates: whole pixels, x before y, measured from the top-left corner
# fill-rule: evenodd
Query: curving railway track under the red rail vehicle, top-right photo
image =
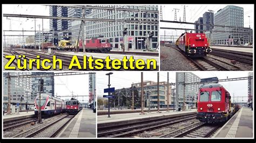
<path id="1" fill-rule="evenodd" d="M 210 58 L 210 57 L 201 57 L 201 58 L 190 58 L 190 56 L 185 55 L 183 52 L 180 51 L 177 46 L 174 45 L 169 45 L 169 47 L 176 49 L 179 51 L 181 54 L 183 54 L 187 60 L 189 60 L 195 70 L 224 70 L 224 71 L 229 71 L 229 70 L 243 70 L 240 67 L 231 65 L 230 63 L 220 61 L 218 59 Z"/>

